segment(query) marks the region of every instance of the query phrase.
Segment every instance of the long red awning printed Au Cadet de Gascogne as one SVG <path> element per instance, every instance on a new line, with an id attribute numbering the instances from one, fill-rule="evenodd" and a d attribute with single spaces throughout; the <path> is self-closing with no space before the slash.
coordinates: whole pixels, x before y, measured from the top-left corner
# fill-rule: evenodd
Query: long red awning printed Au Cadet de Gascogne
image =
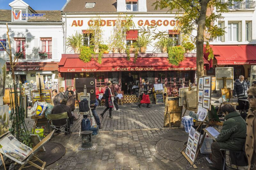
<path id="1" fill-rule="evenodd" d="M 145 57 L 138 56 L 136 63 L 133 63 L 133 57 L 131 61 L 127 61 L 126 57 L 103 57 L 102 64 L 99 64 L 94 59 L 84 63 L 77 54 L 62 54 L 59 72 L 196 70 L 196 57 L 185 57 L 179 66 L 174 66 L 169 63 L 167 57 L 147 57 L 147 53 L 142 55 Z M 205 59 L 204 66 L 209 66 Z"/>

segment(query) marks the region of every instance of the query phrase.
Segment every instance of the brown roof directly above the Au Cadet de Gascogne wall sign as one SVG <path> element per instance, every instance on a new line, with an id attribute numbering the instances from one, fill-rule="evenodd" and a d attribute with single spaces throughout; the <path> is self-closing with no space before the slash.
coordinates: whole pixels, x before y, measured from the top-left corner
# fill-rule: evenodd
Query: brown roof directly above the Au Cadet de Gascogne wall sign
<path id="1" fill-rule="evenodd" d="M 85 3 L 95 2 L 94 8 L 85 8 Z M 155 10 L 155 6 L 152 4 L 156 0 L 147 0 L 147 11 L 148 12 L 167 12 L 168 9 Z M 117 12 L 117 2 L 116 0 L 69 0 L 65 4 L 63 12 Z M 136 12 L 134 12 L 136 13 Z"/>

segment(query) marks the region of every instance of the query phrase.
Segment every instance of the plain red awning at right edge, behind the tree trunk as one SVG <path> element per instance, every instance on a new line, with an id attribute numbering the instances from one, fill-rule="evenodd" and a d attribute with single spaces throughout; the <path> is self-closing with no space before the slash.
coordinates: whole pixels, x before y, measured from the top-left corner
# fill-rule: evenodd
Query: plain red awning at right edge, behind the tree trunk
<path id="1" fill-rule="evenodd" d="M 210 45 L 217 65 L 256 64 L 256 46 L 252 45 Z M 204 54 L 207 55 L 207 54 Z M 208 56 L 208 55 L 207 55 Z"/>

